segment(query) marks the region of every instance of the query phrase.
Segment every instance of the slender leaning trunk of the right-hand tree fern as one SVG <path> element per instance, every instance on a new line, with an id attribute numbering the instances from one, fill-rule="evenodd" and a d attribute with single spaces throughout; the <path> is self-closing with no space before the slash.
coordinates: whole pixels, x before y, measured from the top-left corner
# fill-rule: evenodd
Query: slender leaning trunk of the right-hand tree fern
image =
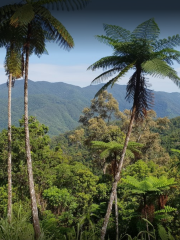
<path id="1" fill-rule="evenodd" d="M 110 200 L 109 200 L 106 216 L 105 216 L 104 224 L 103 224 L 103 227 L 102 227 L 102 230 L 101 230 L 101 240 L 105 239 L 106 229 L 107 229 L 109 217 L 111 215 L 112 204 L 113 204 L 115 193 L 116 193 L 116 189 L 117 189 L 117 183 L 118 183 L 118 181 L 120 179 L 120 173 L 121 173 L 121 169 L 122 169 L 122 166 L 123 166 L 126 149 L 127 149 L 129 138 L 130 138 L 131 131 L 132 131 L 132 126 L 133 126 L 133 122 L 134 122 L 134 118 L 135 118 L 135 111 L 136 111 L 136 108 L 133 107 L 131 120 L 130 120 L 130 123 L 129 123 L 129 128 L 128 128 L 128 132 L 127 132 L 127 135 L 126 135 L 126 139 L 125 139 L 125 143 L 124 143 L 121 159 L 120 159 L 119 164 L 118 164 L 118 170 L 117 170 L 114 182 L 113 182 L 112 191 L 111 191 L 111 195 L 110 195 Z"/>

